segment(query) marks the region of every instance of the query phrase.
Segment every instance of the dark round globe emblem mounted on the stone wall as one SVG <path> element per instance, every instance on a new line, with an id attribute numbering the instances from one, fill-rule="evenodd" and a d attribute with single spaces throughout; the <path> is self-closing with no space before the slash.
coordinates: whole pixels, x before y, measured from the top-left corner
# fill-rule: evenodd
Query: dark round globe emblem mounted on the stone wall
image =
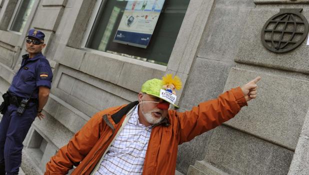
<path id="1" fill-rule="evenodd" d="M 280 9 L 261 31 L 263 46 L 271 52 L 285 53 L 298 47 L 308 35 L 308 22 L 302 9 Z"/>

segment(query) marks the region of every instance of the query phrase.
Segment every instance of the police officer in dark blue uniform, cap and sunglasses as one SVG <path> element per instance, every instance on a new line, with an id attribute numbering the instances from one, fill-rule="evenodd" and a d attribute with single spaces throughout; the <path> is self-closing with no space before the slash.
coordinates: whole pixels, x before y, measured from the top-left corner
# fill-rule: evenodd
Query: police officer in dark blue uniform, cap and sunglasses
<path id="1" fill-rule="evenodd" d="M 52 72 L 41 53 L 44 37 L 40 31 L 29 30 L 25 43 L 28 54 L 22 56 L 21 67 L 3 94 L 7 107 L 2 109 L 0 122 L 0 174 L 18 174 L 22 141 L 35 117 L 45 117 L 41 112 L 48 99 Z"/>

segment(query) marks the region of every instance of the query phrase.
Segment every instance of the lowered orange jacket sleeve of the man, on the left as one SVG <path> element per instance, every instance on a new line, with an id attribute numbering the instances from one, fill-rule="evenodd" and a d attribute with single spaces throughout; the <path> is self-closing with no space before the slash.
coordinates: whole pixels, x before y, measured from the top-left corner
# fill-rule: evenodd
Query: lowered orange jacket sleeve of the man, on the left
<path id="1" fill-rule="evenodd" d="M 73 165 L 77 166 L 98 140 L 101 123 L 101 114 L 91 117 L 68 143 L 50 158 L 44 174 L 67 174 Z"/>

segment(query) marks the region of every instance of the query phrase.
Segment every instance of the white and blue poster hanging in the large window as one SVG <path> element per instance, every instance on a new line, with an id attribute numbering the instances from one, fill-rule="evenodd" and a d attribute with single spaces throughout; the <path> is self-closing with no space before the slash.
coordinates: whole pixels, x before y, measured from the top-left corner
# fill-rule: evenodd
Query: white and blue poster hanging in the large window
<path id="1" fill-rule="evenodd" d="M 147 48 L 164 1 L 128 1 L 113 41 Z"/>

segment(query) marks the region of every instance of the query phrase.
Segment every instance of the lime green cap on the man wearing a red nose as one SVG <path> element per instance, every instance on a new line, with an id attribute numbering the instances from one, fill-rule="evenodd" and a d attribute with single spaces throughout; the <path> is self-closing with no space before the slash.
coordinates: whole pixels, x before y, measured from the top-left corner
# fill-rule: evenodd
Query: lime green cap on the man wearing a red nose
<path id="1" fill-rule="evenodd" d="M 147 80 L 146 82 L 144 82 L 144 84 L 141 86 L 140 92 L 146 93 L 148 95 L 153 95 L 153 96 L 158 97 L 158 98 L 160 98 L 164 101 L 167 101 L 166 99 L 160 97 L 160 90 L 161 89 L 162 89 L 162 80 L 154 78 L 154 79 Z M 169 102 L 169 101 L 167 101 L 167 102 Z M 170 104 L 172 104 L 172 103 L 170 103 Z M 172 105 L 179 108 L 175 104 L 172 104 Z"/>

